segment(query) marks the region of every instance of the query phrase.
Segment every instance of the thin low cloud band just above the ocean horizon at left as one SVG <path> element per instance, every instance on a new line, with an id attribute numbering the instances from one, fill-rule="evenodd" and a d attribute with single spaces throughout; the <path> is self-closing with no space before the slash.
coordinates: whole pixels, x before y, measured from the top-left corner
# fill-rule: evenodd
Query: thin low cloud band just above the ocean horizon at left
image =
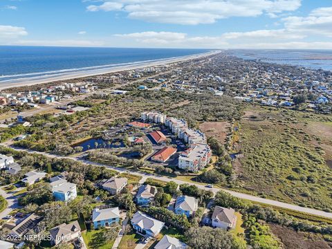
<path id="1" fill-rule="evenodd" d="M 89 40 L 19 40 L 15 42 L 16 45 L 26 46 L 104 46 L 102 41 Z"/>

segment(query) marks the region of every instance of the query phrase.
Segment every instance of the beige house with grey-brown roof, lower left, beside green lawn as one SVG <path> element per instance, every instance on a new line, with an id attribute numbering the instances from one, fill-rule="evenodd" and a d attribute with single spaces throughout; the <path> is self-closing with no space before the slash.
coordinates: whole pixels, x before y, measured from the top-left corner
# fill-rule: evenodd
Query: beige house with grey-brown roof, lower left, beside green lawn
<path id="1" fill-rule="evenodd" d="M 66 224 L 62 223 L 50 230 L 51 242 L 53 246 L 57 246 L 59 243 L 66 243 L 73 241 L 81 236 L 81 228 L 78 221 Z"/>

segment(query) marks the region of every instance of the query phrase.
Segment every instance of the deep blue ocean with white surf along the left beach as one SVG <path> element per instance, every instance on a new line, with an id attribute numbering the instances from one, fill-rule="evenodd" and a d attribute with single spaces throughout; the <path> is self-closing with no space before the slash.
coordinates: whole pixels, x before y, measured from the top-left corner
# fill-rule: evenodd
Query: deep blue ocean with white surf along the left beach
<path id="1" fill-rule="evenodd" d="M 206 49 L 0 46 L 0 82 L 205 53 Z"/>

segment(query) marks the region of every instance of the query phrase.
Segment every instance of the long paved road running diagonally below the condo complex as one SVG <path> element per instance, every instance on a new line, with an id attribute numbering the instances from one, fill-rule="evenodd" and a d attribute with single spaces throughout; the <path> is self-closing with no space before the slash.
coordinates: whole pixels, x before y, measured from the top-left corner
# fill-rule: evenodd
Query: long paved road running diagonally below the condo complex
<path id="1" fill-rule="evenodd" d="M 10 142 L 5 142 L 5 143 L 2 143 L 0 145 L 10 146 Z M 44 154 L 45 156 L 49 156 L 49 157 L 53 157 L 53 158 L 67 158 L 67 159 L 77 160 L 77 161 L 80 161 L 82 163 L 86 163 L 86 164 L 90 164 L 90 165 L 107 167 L 109 169 L 116 170 L 117 172 L 122 172 L 122 173 L 123 172 L 128 172 L 128 170 L 125 169 L 125 168 L 104 165 L 102 163 L 95 163 L 95 162 L 91 162 L 89 160 L 82 160 L 80 158 L 73 158 L 73 157 L 70 157 L 70 156 L 58 156 L 58 155 L 54 155 L 54 154 L 48 154 L 48 153 L 45 153 L 45 152 L 31 151 L 31 150 L 21 149 L 21 148 L 17 148 L 17 147 L 15 147 L 14 149 L 21 150 L 21 151 L 28 151 L 30 153 Z M 134 172 L 134 171 L 129 171 L 129 172 L 130 172 L 130 174 L 133 174 L 133 175 L 136 175 L 136 176 L 142 176 L 142 178 L 143 178 L 142 181 L 149 177 L 149 178 L 154 178 L 156 180 L 166 181 L 166 182 L 174 181 L 175 183 L 178 183 L 178 184 L 188 183 L 186 181 L 181 181 L 181 180 L 166 177 L 166 176 L 159 176 L 159 175 L 156 175 L 156 174 L 149 174 L 149 173 L 145 173 L 145 172 Z M 142 182 L 142 181 L 140 181 L 140 182 Z M 219 190 L 223 190 L 225 192 L 228 192 L 229 194 L 232 194 L 232 196 L 235 196 L 235 197 L 238 197 L 238 198 L 241 198 L 241 199 L 246 199 L 248 201 L 256 201 L 258 203 L 274 205 L 274 206 L 279 207 L 279 208 L 287 208 L 289 210 L 305 212 L 305 213 L 308 213 L 308 214 L 323 216 L 323 217 L 332 219 L 332 213 L 331 212 L 324 212 L 322 210 L 315 210 L 313 208 L 304 208 L 304 207 L 300 207 L 298 205 L 284 203 L 282 201 L 274 201 L 274 200 L 270 200 L 270 199 L 264 199 L 264 198 L 261 198 L 259 196 L 253 196 L 253 195 L 250 195 L 250 194 L 243 194 L 243 193 L 235 192 L 235 191 L 232 191 L 232 190 L 226 190 L 226 189 L 223 189 L 221 187 L 208 188 L 208 187 L 205 187 L 205 185 L 199 184 L 199 183 L 189 183 L 189 184 L 196 185 L 201 190 L 211 190 L 214 194 L 216 194 L 216 192 L 218 192 Z"/>

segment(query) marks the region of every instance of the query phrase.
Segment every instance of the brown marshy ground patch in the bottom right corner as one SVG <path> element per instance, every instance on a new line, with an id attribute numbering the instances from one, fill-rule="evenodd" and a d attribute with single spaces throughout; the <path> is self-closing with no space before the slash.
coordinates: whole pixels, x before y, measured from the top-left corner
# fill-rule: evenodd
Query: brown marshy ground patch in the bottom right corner
<path id="1" fill-rule="evenodd" d="M 315 236 L 315 234 L 308 234 L 304 232 L 295 232 L 289 228 L 285 228 L 281 225 L 269 224 L 272 232 L 277 236 L 284 248 L 287 249 L 329 249 L 329 244 Z"/>

